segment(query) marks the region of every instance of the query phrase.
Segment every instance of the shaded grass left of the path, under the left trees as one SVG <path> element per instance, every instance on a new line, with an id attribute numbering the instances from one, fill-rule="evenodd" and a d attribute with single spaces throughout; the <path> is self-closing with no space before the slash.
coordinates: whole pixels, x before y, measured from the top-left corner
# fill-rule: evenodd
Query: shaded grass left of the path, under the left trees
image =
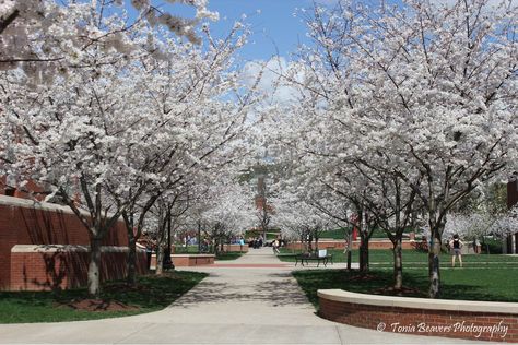
<path id="1" fill-rule="evenodd" d="M 108 282 L 103 285 L 101 296 L 108 310 L 99 311 L 76 307 L 81 300 L 89 302 L 85 288 L 59 293 L 0 292 L 0 323 L 92 320 L 156 311 L 170 305 L 205 276 L 205 273 L 174 271 L 163 276 L 141 276 L 137 287 L 132 288 L 122 282 Z"/>

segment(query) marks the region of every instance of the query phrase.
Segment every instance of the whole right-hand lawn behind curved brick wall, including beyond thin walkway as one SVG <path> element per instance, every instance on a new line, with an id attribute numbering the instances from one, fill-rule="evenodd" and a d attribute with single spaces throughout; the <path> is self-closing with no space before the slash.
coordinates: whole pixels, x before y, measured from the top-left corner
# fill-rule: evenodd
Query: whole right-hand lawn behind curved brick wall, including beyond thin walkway
<path id="1" fill-rule="evenodd" d="M 290 250 L 284 250 L 290 253 Z M 342 250 L 332 250 L 334 262 L 344 262 Z M 358 251 L 353 251 L 353 262 L 358 262 Z M 427 253 L 403 250 L 404 296 L 426 297 L 428 289 Z M 294 261 L 293 258 L 280 258 Z M 451 267 L 451 255 L 440 255 L 442 296 L 445 299 L 493 300 L 518 302 L 518 257 L 496 254 L 462 255 L 463 267 Z M 366 279 L 357 272 L 319 270 L 294 272 L 298 284 L 309 300 L 317 305 L 317 289 L 342 288 L 354 293 L 386 294 L 392 285 L 393 257 L 391 250 L 369 251 L 370 272 Z"/>

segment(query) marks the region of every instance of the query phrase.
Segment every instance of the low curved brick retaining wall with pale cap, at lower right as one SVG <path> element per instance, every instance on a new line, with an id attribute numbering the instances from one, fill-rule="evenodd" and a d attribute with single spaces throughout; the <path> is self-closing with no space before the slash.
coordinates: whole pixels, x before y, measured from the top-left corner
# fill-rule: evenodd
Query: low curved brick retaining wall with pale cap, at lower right
<path id="1" fill-rule="evenodd" d="M 380 332 L 518 343 L 518 304 L 319 290 L 319 314 Z"/>

